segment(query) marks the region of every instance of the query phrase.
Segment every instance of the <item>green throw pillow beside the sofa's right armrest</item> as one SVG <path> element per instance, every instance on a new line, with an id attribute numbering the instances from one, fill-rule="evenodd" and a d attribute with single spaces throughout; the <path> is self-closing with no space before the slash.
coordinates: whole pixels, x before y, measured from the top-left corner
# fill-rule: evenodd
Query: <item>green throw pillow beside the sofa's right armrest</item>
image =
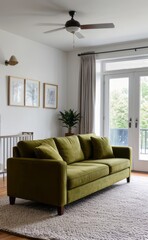
<path id="1" fill-rule="evenodd" d="M 113 158 L 113 150 L 106 137 L 91 137 L 93 145 L 93 158 Z"/>

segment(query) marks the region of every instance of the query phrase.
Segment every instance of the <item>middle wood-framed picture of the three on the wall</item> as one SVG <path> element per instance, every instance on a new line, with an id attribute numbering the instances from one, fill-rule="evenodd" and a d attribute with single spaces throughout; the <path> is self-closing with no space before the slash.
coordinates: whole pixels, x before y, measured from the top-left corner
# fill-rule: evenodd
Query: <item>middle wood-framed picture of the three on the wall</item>
<path id="1" fill-rule="evenodd" d="M 25 79 L 25 106 L 40 106 L 40 81 Z"/>

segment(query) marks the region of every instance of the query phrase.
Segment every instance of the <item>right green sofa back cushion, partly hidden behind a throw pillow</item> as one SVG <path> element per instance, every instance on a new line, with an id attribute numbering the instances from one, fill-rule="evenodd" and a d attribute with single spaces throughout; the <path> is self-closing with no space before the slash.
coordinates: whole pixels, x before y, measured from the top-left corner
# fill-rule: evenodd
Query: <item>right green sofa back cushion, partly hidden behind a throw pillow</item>
<path id="1" fill-rule="evenodd" d="M 85 159 L 91 159 L 93 157 L 93 146 L 91 137 L 95 137 L 95 133 L 89 133 L 89 134 L 80 134 L 78 135 L 79 141 L 81 144 L 81 148 L 84 153 Z"/>

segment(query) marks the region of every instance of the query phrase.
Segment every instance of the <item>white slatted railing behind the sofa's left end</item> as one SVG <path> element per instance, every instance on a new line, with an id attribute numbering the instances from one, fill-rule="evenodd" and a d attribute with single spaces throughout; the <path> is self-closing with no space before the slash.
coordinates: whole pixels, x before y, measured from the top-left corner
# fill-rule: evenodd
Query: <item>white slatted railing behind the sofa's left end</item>
<path id="1" fill-rule="evenodd" d="M 7 159 L 13 156 L 13 147 L 21 140 L 33 140 L 33 132 L 0 136 L 0 174 L 7 172 Z"/>

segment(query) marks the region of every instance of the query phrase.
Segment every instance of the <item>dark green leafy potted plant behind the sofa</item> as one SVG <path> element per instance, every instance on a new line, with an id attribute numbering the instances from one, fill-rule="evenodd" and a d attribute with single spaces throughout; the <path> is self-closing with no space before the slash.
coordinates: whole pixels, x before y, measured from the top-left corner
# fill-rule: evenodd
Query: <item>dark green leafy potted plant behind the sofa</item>
<path id="1" fill-rule="evenodd" d="M 68 111 L 64 110 L 64 112 L 60 111 L 60 121 L 63 123 L 63 127 L 68 128 L 68 133 L 66 133 L 66 136 L 73 135 L 72 128 L 76 127 L 76 125 L 80 121 L 80 113 L 77 111 L 74 111 L 72 109 L 69 109 Z"/>

